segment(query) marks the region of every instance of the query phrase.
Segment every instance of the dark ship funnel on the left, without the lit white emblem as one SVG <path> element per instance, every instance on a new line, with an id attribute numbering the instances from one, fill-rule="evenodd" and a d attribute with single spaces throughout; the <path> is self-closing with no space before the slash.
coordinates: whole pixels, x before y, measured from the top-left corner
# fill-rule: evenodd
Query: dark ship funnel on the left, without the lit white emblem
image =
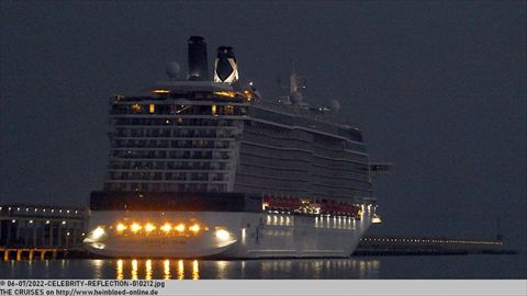
<path id="1" fill-rule="evenodd" d="M 206 43 L 203 37 L 189 38 L 189 73 L 188 80 L 209 80 L 209 66 L 206 61 Z"/>

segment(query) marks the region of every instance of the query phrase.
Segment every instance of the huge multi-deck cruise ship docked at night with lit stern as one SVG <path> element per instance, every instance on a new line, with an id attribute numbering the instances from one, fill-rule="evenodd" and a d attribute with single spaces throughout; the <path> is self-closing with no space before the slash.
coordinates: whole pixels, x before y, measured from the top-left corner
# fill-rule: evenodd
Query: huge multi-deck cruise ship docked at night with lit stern
<path id="1" fill-rule="evenodd" d="M 109 257 L 348 257 L 378 219 L 359 129 L 329 107 L 268 101 L 239 83 L 232 47 L 189 39 L 189 72 L 115 95 L 104 190 L 90 200 L 88 250 Z"/>

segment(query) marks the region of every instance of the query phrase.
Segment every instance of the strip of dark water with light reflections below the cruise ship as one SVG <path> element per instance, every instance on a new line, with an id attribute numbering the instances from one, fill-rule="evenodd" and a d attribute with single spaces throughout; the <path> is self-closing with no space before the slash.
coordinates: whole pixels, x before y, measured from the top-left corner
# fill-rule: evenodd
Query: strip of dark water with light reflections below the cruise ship
<path id="1" fill-rule="evenodd" d="M 363 257 L 321 260 L 2 261 L 0 278 L 526 278 L 516 255 Z"/>

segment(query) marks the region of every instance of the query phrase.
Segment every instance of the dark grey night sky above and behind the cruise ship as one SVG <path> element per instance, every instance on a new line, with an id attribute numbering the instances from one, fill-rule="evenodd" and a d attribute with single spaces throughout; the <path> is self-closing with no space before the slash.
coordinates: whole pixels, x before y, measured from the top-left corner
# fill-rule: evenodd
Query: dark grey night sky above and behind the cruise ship
<path id="1" fill-rule="evenodd" d="M 526 246 L 525 1 L 1 2 L 0 202 L 83 205 L 105 174 L 108 98 L 232 45 L 264 95 L 295 62 L 306 101 L 359 123 L 384 224 Z M 211 67 L 212 68 L 212 67 Z"/>

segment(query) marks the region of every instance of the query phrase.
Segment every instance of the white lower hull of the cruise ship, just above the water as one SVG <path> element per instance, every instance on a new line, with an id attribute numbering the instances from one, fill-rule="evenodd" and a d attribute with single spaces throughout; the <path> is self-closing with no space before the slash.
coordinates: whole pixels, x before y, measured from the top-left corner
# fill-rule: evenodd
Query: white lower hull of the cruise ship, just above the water
<path id="1" fill-rule="evenodd" d="M 351 255 L 371 217 L 368 210 L 360 219 L 249 212 L 97 210 L 91 213 L 92 231 L 85 243 L 90 252 L 113 258 L 343 258 Z M 160 226 L 167 223 L 193 223 L 200 230 L 165 234 Z M 128 230 L 132 224 L 150 224 L 156 230 L 147 232 L 143 227 L 135 234 L 121 234 L 117 224 Z M 97 228 L 104 234 L 94 235 Z"/>

